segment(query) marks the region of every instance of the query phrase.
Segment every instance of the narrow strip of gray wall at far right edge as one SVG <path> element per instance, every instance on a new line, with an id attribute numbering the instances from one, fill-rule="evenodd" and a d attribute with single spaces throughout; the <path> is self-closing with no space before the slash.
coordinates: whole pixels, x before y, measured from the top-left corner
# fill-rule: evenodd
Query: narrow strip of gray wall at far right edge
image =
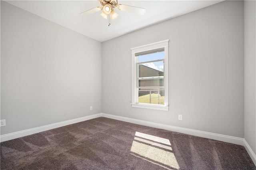
<path id="1" fill-rule="evenodd" d="M 256 154 L 256 1 L 244 1 L 244 138 Z"/>

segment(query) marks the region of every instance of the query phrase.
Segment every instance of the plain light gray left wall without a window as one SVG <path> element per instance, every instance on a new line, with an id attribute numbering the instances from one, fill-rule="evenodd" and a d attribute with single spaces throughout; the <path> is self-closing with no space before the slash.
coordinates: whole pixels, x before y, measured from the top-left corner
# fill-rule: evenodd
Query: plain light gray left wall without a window
<path id="1" fill-rule="evenodd" d="M 101 113 L 101 45 L 1 1 L 1 135 Z"/>

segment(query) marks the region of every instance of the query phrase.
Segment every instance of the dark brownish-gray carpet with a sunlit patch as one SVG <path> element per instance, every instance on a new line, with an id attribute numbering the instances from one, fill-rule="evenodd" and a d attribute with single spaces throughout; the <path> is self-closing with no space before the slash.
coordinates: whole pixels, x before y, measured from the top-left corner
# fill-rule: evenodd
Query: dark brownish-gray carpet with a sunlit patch
<path id="1" fill-rule="evenodd" d="M 1 170 L 256 170 L 240 145 L 100 117 L 1 142 Z"/>

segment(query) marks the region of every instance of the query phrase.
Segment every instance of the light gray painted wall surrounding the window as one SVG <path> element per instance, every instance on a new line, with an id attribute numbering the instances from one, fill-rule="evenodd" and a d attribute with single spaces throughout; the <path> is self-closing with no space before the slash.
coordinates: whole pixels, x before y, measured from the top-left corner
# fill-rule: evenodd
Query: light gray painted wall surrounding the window
<path id="1" fill-rule="evenodd" d="M 130 48 L 166 39 L 169 111 L 132 108 Z M 102 112 L 243 138 L 243 2 L 220 2 L 103 42 Z"/>

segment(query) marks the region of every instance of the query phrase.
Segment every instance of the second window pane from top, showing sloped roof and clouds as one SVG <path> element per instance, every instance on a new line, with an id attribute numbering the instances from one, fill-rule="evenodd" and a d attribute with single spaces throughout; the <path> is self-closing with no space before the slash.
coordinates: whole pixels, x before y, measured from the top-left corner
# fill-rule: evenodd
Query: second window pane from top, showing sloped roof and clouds
<path id="1" fill-rule="evenodd" d="M 164 61 L 138 64 L 139 77 L 158 77 L 164 75 Z"/>

